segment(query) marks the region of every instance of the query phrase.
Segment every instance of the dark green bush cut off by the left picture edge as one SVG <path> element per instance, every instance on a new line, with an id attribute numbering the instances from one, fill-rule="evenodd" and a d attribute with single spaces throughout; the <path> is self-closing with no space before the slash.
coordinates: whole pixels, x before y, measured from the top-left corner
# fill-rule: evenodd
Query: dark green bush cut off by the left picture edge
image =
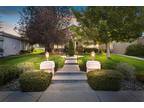
<path id="1" fill-rule="evenodd" d="M 17 66 L 0 66 L 0 85 L 17 79 L 21 73 L 22 71 Z"/>

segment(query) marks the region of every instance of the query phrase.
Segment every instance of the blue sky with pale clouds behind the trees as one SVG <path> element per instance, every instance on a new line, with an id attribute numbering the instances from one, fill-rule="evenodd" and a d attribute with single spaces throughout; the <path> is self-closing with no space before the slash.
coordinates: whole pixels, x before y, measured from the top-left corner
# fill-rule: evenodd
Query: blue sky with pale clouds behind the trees
<path id="1" fill-rule="evenodd" d="M 0 21 L 2 21 L 2 29 L 0 31 L 19 36 L 14 28 L 18 26 L 19 13 L 23 8 L 22 6 L 0 6 Z M 80 11 L 84 7 L 75 6 L 74 8 Z"/>

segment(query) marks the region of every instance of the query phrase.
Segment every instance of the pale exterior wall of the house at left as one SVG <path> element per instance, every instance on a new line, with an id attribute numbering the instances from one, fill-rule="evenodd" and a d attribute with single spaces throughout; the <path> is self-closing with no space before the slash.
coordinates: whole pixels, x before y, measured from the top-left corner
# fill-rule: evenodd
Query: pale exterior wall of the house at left
<path id="1" fill-rule="evenodd" d="M 23 49 L 22 42 L 18 39 L 4 37 L 3 49 L 3 56 L 16 55 Z"/>

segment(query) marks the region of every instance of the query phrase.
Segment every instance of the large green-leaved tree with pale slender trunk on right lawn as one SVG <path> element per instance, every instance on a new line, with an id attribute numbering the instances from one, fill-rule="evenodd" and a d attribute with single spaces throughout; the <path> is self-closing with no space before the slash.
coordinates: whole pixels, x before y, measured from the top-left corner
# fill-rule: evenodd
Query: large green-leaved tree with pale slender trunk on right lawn
<path id="1" fill-rule="evenodd" d="M 144 30 L 143 7 L 87 7 L 74 12 L 89 39 L 106 45 L 110 58 L 110 42 L 131 42 Z"/>

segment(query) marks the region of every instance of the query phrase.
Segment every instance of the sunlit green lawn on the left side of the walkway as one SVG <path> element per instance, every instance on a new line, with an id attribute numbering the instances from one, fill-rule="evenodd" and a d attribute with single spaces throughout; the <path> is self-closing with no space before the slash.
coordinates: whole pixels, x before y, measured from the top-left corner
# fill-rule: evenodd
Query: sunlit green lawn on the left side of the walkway
<path id="1" fill-rule="evenodd" d="M 58 55 L 50 55 L 49 59 L 55 61 L 56 68 L 61 68 L 64 65 L 64 59 Z M 23 62 L 33 62 L 35 69 L 39 69 L 40 63 L 44 60 L 46 58 L 42 54 L 26 54 L 0 58 L 0 65 L 16 65 Z"/>

